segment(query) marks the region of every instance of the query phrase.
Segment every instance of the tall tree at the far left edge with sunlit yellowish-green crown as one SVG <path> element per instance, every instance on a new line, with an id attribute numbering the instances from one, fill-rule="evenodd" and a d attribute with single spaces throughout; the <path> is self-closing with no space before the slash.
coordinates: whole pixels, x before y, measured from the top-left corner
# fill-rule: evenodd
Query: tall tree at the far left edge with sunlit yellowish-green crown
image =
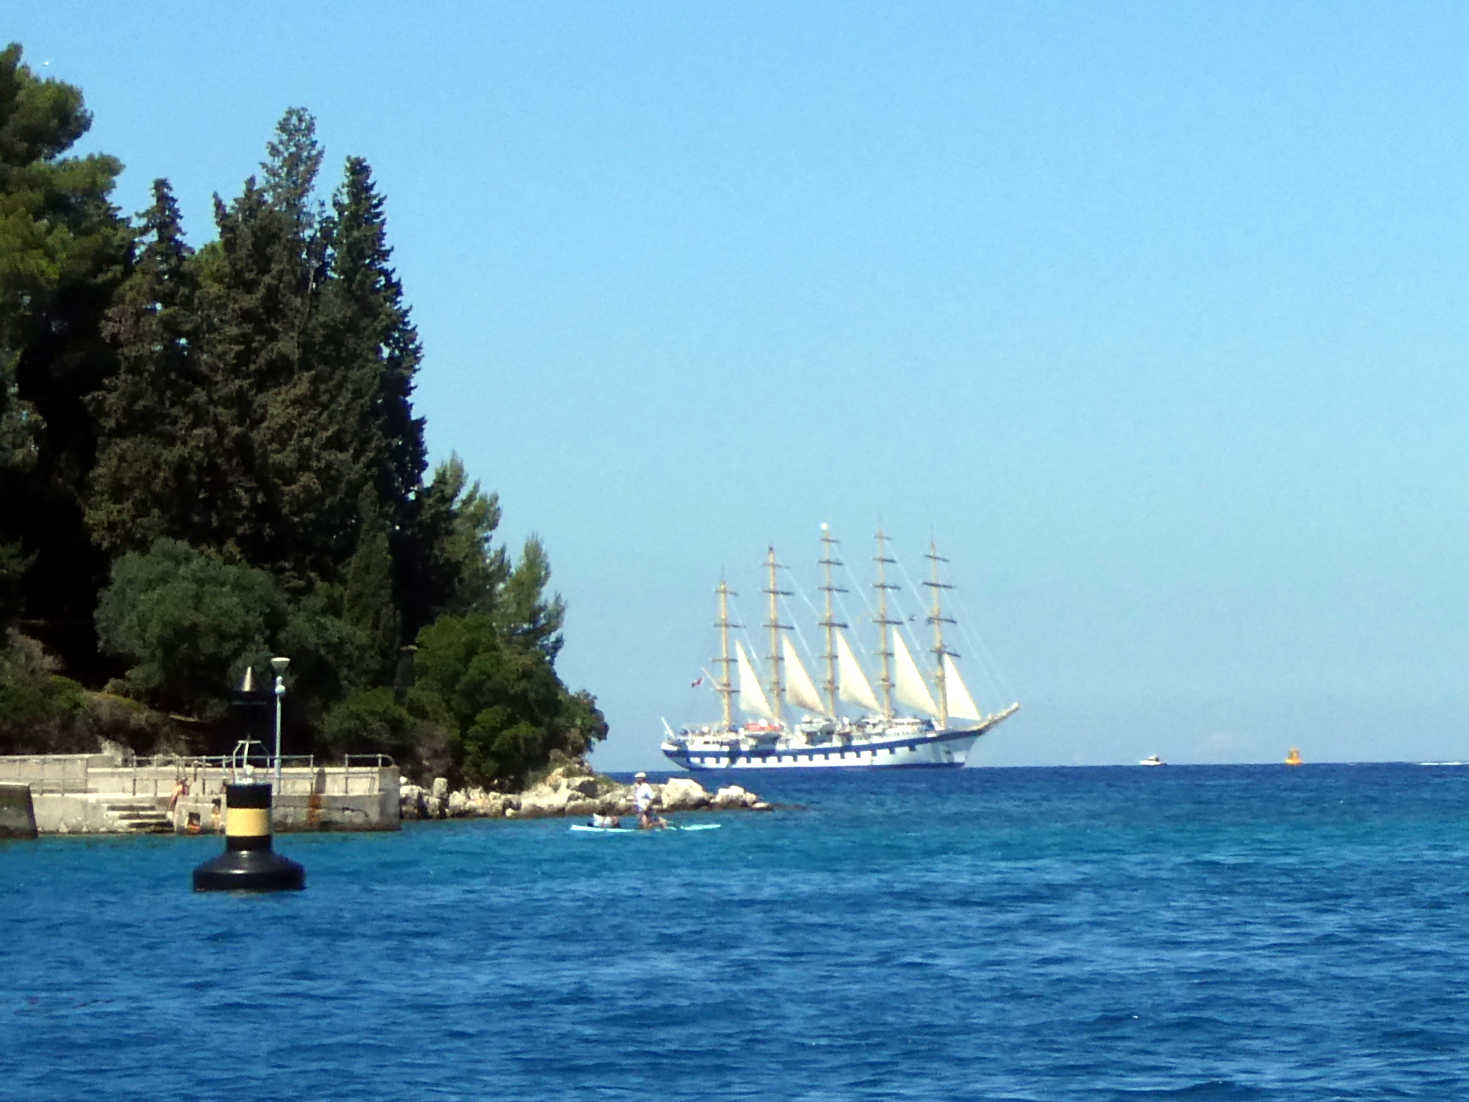
<path id="1" fill-rule="evenodd" d="M 0 50 L 0 545 L 29 563 L 26 614 L 68 660 L 94 649 L 106 567 L 79 491 L 94 432 L 87 395 L 112 370 L 100 322 L 123 276 L 129 231 L 109 201 L 115 157 L 69 157 L 91 126 L 82 94 Z"/>

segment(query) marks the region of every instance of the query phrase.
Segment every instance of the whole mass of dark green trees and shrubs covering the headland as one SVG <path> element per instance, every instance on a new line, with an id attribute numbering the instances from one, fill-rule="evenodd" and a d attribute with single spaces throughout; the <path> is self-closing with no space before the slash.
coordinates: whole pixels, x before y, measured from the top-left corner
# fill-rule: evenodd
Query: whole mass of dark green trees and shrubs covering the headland
<path id="1" fill-rule="evenodd" d="M 291 107 L 195 248 L 166 178 L 113 206 L 90 125 L 0 51 L 0 752 L 222 752 L 273 654 L 292 749 L 510 786 L 605 738 L 555 671 L 546 548 L 497 542 L 458 457 L 429 472 L 367 162 L 323 200 Z M 118 698 L 156 719 L 120 736 Z"/>

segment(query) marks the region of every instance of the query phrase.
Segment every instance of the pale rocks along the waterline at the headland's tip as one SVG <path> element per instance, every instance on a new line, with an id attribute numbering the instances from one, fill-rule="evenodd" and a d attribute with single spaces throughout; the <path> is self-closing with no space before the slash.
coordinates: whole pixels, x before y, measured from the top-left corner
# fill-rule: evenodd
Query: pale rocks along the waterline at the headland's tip
<path id="1" fill-rule="evenodd" d="M 654 785 L 660 811 L 770 811 L 771 805 L 739 785 L 710 792 L 692 777 Z M 400 788 L 403 820 L 416 818 L 591 818 L 633 815 L 633 788 L 601 776 L 585 763 L 558 766 L 524 792 L 450 791 L 444 777 L 425 788 Z"/>

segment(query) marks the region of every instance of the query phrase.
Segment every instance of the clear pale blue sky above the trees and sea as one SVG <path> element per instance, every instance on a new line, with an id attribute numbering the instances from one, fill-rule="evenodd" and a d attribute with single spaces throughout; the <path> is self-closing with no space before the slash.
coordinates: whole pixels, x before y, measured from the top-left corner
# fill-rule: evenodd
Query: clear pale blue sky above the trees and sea
<path id="1" fill-rule="evenodd" d="M 190 241 L 364 156 L 417 410 L 655 767 L 723 570 L 930 536 L 977 764 L 1469 758 L 1469 7 L 12 4 Z M 814 633 L 809 636 L 814 639 Z M 967 654 L 968 657 L 968 654 Z M 981 682 L 983 683 L 983 682 Z"/>

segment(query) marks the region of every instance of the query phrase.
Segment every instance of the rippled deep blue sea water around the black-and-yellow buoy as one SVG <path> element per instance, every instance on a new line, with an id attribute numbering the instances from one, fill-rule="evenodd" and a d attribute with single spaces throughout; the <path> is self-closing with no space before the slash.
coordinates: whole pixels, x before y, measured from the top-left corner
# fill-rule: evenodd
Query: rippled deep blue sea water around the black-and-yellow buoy
<path id="1" fill-rule="evenodd" d="M 273 895 L 0 843 L 0 1096 L 1469 1098 L 1469 767 L 710 780 L 779 807 L 281 835 Z"/>

